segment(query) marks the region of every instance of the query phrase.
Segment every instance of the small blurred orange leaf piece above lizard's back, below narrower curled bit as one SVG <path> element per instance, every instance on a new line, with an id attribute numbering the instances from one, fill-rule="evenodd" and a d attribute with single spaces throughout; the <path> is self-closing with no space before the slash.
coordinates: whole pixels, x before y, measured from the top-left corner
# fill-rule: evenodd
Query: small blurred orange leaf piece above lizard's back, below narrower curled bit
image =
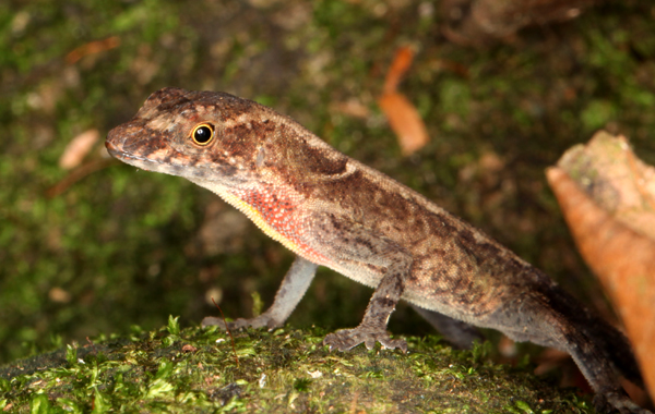
<path id="1" fill-rule="evenodd" d="M 403 155 L 409 155 L 428 143 L 428 131 L 418 111 L 409 100 L 398 93 L 386 93 L 378 99 L 391 129 L 398 137 Z"/>

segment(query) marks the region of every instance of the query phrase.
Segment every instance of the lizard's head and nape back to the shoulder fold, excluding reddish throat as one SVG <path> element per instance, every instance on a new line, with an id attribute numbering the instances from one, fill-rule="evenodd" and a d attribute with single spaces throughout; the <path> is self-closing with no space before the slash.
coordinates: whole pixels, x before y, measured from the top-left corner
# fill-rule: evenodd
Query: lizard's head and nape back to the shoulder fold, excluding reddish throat
<path id="1" fill-rule="evenodd" d="M 348 172 L 347 157 L 293 119 L 225 93 L 157 90 L 109 132 L 105 145 L 123 162 L 213 190 L 257 183 L 307 188 Z"/>

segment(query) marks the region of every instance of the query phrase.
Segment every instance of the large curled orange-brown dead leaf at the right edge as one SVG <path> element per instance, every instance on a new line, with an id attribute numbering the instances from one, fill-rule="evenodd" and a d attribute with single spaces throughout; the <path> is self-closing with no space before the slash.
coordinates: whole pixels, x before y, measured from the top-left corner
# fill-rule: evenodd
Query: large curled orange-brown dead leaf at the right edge
<path id="1" fill-rule="evenodd" d="M 585 261 L 608 292 L 655 397 L 655 170 L 599 132 L 547 171 Z"/>

